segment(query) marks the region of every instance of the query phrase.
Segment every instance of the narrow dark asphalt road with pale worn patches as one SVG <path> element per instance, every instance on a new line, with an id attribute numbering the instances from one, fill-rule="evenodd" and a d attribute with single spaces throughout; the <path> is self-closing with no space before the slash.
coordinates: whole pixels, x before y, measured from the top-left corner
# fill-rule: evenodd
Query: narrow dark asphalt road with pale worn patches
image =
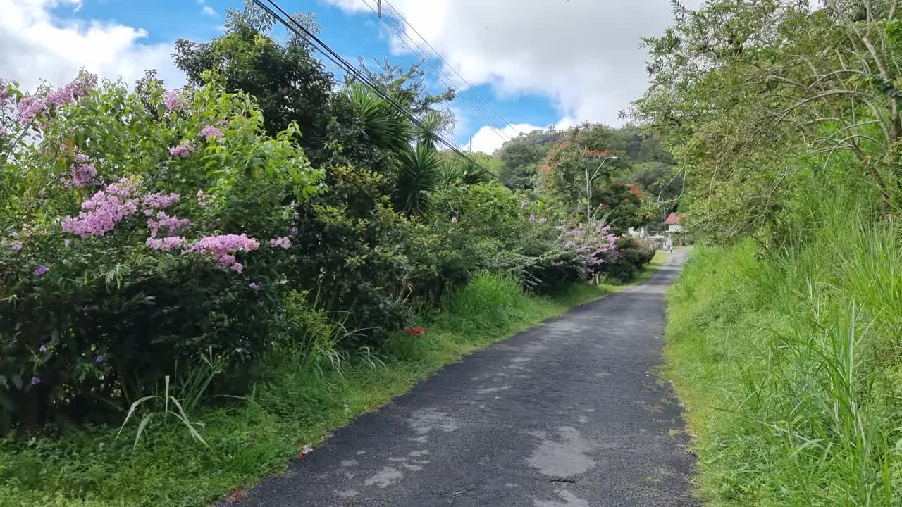
<path id="1" fill-rule="evenodd" d="M 694 505 L 681 411 L 658 375 L 664 290 L 685 255 L 447 366 L 239 505 Z"/>

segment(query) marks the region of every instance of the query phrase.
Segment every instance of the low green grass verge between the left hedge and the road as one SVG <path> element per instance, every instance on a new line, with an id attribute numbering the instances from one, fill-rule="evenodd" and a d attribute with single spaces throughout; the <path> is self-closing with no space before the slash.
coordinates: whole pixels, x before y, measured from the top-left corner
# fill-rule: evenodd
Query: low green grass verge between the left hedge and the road
<path id="1" fill-rule="evenodd" d="M 134 425 L 118 440 L 109 427 L 7 437 L 0 440 L 0 505 L 209 505 L 278 471 L 305 445 L 316 448 L 330 430 L 440 367 L 613 289 L 583 283 L 535 297 L 515 281 L 483 274 L 421 319 L 423 336 L 393 335 L 379 357 L 353 357 L 336 371 L 272 355 L 247 399 L 189 414 L 209 448 L 175 421 L 153 422 L 134 452 Z"/>

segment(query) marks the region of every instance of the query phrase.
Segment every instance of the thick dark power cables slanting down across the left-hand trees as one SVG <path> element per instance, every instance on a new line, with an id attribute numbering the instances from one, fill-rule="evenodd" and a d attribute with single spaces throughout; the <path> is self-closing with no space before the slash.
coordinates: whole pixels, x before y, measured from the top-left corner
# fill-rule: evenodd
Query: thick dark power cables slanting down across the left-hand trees
<path id="1" fill-rule="evenodd" d="M 486 174 L 490 174 L 490 175 L 494 176 L 496 179 L 502 181 L 502 183 L 504 183 L 506 186 L 508 186 L 508 188 L 524 190 L 520 187 L 520 185 L 517 185 L 515 183 L 512 183 L 511 181 L 504 179 L 500 174 L 489 170 L 483 164 L 479 163 L 478 161 L 475 161 L 473 157 L 471 157 L 468 154 L 466 154 L 465 152 L 461 151 L 454 143 L 449 142 L 445 138 L 444 135 L 438 134 L 434 130 L 430 129 L 428 127 L 428 125 L 424 124 L 422 121 L 419 120 L 419 118 L 416 115 L 414 115 L 412 112 L 410 112 L 410 110 L 407 107 L 401 105 L 397 100 L 395 100 L 394 97 L 391 97 L 391 94 L 389 94 L 387 91 L 380 88 L 379 85 L 375 84 L 372 79 L 365 76 L 362 72 L 355 69 L 354 66 L 351 65 L 347 60 L 345 60 L 340 54 L 338 54 L 335 50 L 333 50 L 331 47 L 329 47 L 329 45 L 325 41 L 322 41 L 315 33 L 310 32 L 307 27 L 305 27 L 304 25 L 295 21 L 294 18 L 292 18 L 290 16 L 290 14 L 285 12 L 285 10 L 282 9 L 281 6 L 279 6 L 274 0 L 253 0 L 253 3 L 256 4 L 257 6 L 259 6 L 260 8 L 262 8 L 264 11 L 266 11 L 270 15 L 272 15 L 273 18 L 275 18 L 277 21 L 279 21 L 279 23 L 284 25 L 285 28 L 289 29 L 291 32 L 294 32 L 296 35 L 298 35 L 301 38 L 306 39 L 307 41 L 311 41 L 314 45 L 314 48 L 317 49 L 320 53 L 322 53 L 323 56 L 325 56 L 328 60 L 331 60 L 338 67 L 345 69 L 346 73 L 347 72 L 351 73 L 354 76 L 354 78 L 359 79 L 361 82 L 364 83 L 364 85 L 366 85 L 368 88 L 371 88 L 373 90 L 373 92 L 376 93 L 376 95 L 378 95 L 379 97 L 382 98 L 382 100 L 388 102 L 391 106 L 393 106 L 395 109 L 397 109 L 402 115 L 407 116 L 407 118 L 410 120 L 410 122 L 419 126 L 419 128 L 421 128 L 424 132 L 428 133 L 430 136 L 435 138 L 439 143 L 444 144 L 449 150 L 451 150 L 452 152 L 455 152 L 458 156 L 464 158 L 466 161 L 469 161 L 470 163 L 474 164 L 474 166 L 485 171 Z M 266 4 L 272 5 L 272 7 L 270 7 L 269 5 L 266 5 Z M 282 16 L 284 16 L 284 17 L 282 17 Z M 286 19 L 290 20 L 290 21 L 286 21 Z M 538 196 L 534 196 L 531 193 L 527 193 L 527 195 L 529 195 L 529 197 L 537 199 L 540 202 L 549 204 L 548 201 L 545 201 Z"/>

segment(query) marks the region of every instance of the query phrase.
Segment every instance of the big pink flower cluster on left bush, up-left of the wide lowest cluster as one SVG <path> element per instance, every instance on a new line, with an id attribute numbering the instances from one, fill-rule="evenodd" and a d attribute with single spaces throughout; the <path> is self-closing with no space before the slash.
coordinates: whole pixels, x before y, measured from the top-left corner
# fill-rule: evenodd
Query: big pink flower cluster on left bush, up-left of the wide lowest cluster
<path id="1" fill-rule="evenodd" d="M 125 178 L 107 185 L 81 203 L 83 211 L 78 217 L 63 219 L 62 230 L 82 238 L 105 235 L 124 217 L 138 211 L 137 199 L 132 198 L 133 191 L 134 183 Z"/>

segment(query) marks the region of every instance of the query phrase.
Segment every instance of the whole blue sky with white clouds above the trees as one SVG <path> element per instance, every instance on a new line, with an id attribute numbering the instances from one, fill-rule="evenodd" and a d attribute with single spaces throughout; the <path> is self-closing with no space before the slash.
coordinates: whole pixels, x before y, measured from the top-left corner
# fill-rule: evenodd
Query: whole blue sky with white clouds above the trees
<path id="1" fill-rule="evenodd" d="M 407 36 L 426 49 L 410 26 L 416 28 L 474 85 L 469 89 L 455 78 L 461 91 L 452 105 L 458 119 L 454 137 L 461 145 L 472 139 L 474 149 L 489 152 L 511 135 L 533 128 L 581 121 L 617 123 L 617 112 L 645 87 L 639 37 L 660 32 L 670 19 L 667 0 L 384 1 L 389 19 Z M 367 2 L 375 5 L 375 0 L 279 3 L 290 12 L 316 13 L 320 36 L 348 60 L 419 61 Z M 123 76 L 129 81 L 145 68 L 158 68 L 163 78 L 179 85 L 182 78 L 169 57 L 173 41 L 215 37 L 226 9 L 242 4 L 242 0 L 0 0 L 0 12 L 5 13 L 0 16 L 0 77 L 18 79 L 28 88 L 36 85 L 35 76 L 61 82 L 82 66 L 105 78 Z M 430 63 L 455 75 L 435 57 Z M 437 73 L 430 72 L 428 79 L 433 89 L 444 88 Z M 488 123 L 501 127 L 502 133 Z"/>

